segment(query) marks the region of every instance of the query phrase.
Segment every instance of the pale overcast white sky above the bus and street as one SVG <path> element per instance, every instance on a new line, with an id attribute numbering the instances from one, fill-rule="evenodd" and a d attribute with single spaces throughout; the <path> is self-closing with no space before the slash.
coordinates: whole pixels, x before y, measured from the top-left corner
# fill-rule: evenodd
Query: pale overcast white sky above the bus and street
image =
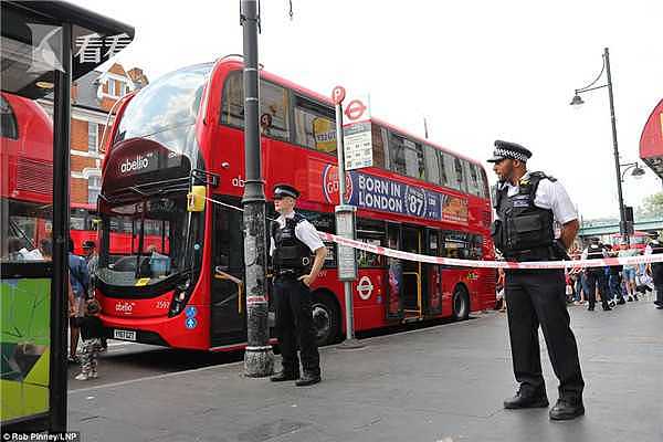
<path id="1" fill-rule="evenodd" d="M 150 81 L 242 53 L 240 1 L 80 0 L 136 29 L 114 61 Z M 529 170 L 560 180 L 583 219 L 618 217 L 608 90 L 582 95 L 610 49 L 620 162 L 639 160 L 642 128 L 663 97 L 660 0 L 262 0 L 259 61 L 329 95 L 370 94 L 371 114 L 471 158 L 495 139 L 529 148 Z M 606 77 L 598 85 L 604 84 Z M 642 165 L 642 164 L 641 164 Z M 494 173 L 486 164 L 488 177 Z M 648 168 L 624 202 L 663 189 Z"/>

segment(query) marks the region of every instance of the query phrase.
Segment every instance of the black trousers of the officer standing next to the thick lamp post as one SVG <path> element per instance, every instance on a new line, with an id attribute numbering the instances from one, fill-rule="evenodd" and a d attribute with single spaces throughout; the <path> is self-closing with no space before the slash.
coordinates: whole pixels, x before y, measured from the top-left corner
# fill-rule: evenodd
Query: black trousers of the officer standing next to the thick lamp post
<path id="1" fill-rule="evenodd" d="M 288 373 L 299 372 L 299 348 L 304 371 L 319 376 L 320 356 L 313 326 L 311 290 L 302 281 L 297 281 L 295 275 L 276 276 L 274 303 L 283 370 Z"/>

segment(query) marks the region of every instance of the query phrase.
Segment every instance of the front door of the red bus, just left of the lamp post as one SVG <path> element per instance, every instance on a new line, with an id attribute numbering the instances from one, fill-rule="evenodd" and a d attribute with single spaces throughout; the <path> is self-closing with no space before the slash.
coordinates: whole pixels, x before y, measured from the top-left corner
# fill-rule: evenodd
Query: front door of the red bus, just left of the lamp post
<path id="1" fill-rule="evenodd" d="M 228 206 L 240 200 L 215 197 Z M 242 212 L 210 202 L 212 259 L 210 287 L 210 345 L 220 347 L 246 340 L 244 307 L 244 242 Z"/>

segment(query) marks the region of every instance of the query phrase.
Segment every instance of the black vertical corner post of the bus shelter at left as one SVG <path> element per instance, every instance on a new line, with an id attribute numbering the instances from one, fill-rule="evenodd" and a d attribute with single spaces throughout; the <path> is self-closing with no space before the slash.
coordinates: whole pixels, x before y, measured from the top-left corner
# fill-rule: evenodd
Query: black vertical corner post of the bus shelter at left
<path id="1" fill-rule="evenodd" d="M 66 432 L 66 328 L 69 313 L 70 118 L 72 25 L 62 23 L 62 67 L 53 96 L 53 275 L 51 280 L 51 364 L 49 431 Z"/>

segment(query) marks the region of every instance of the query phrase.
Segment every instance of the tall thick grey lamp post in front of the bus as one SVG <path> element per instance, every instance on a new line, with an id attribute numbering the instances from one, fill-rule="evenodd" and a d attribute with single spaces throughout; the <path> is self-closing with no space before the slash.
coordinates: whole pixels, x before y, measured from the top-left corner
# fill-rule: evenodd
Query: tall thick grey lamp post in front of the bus
<path id="1" fill-rule="evenodd" d="M 269 304 L 266 296 L 265 191 L 262 178 L 256 0 L 241 0 L 240 21 L 244 46 L 244 266 L 246 282 L 246 350 L 244 373 L 261 378 L 274 371 L 270 345 Z"/>

